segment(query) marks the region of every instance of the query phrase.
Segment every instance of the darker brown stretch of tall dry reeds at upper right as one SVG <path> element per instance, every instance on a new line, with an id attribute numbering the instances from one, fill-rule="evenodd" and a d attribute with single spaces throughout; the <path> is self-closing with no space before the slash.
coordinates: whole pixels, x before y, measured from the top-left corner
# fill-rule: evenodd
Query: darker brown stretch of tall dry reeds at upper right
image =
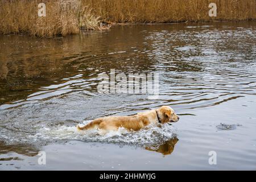
<path id="1" fill-rule="evenodd" d="M 183 22 L 256 19 L 255 0 L 82 0 L 110 22 Z M 209 3 L 217 17 L 209 17 Z"/>

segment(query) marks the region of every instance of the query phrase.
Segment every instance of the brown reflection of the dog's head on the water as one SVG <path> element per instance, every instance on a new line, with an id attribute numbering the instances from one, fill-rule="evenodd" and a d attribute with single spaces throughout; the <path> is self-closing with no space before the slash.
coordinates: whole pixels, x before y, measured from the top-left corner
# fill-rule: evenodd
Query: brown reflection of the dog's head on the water
<path id="1" fill-rule="evenodd" d="M 176 137 L 168 140 L 167 142 L 164 142 L 163 144 L 160 144 L 159 146 L 148 146 L 145 149 L 149 151 L 156 151 L 160 152 L 163 155 L 170 155 L 174 151 L 174 146 L 179 141 Z"/>

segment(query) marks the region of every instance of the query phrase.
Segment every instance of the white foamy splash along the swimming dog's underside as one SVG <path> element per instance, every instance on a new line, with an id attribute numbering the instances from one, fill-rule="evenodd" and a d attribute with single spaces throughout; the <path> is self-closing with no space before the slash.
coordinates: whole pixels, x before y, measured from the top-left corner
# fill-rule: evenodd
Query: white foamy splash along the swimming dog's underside
<path id="1" fill-rule="evenodd" d="M 88 122 L 84 124 L 86 123 Z M 174 137 L 176 137 L 175 131 L 168 124 L 161 125 L 161 127 L 148 126 L 139 131 L 128 131 L 120 127 L 118 131 L 110 131 L 105 135 L 102 135 L 97 129 L 77 130 L 76 126 L 43 127 L 36 134 L 36 138 L 46 140 L 82 140 L 84 142 L 135 144 L 138 146 L 159 144 Z"/>

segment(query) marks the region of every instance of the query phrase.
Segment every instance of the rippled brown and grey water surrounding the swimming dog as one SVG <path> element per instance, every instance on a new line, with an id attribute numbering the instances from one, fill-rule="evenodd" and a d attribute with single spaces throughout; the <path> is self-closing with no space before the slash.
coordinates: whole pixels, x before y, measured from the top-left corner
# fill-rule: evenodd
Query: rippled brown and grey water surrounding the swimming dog
<path id="1" fill-rule="evenodd" d="M 137 24 L 56 39 L 0 35 L 0 169 L 256 169 L 255 28 Z M 98 93 L 98 75 L 110 69 L 159 73 L 159 97 Z M 180 121 L 107 136 L 75 129 L 161 105 Z"/>

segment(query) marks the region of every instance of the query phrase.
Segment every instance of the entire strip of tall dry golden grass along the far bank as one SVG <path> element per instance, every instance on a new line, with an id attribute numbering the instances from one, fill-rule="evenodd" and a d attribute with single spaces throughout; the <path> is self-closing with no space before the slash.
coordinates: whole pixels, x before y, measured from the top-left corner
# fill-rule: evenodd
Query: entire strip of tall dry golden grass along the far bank
<path id="1" fill-rule="evenodd" d="M 38 4 L 46 3 L 46 17 Z M 217 17 L 209 17 L 209 3 Z M 256 0 L 2 0 L 0 33 L 26 32 L 36 36 L 76 34 L 97 29 L 99 22 L 184 22 L 255 20 Z"/>

